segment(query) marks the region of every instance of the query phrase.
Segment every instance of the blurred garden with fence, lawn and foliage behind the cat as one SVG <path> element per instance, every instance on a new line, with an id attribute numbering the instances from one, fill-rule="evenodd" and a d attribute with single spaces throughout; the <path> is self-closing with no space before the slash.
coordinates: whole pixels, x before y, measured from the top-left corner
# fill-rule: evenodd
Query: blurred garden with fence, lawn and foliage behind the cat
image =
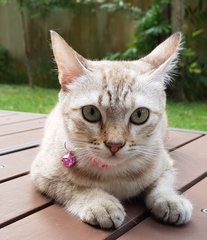
<path id="1" fill-rule="evenodd" d="M 170 124 L 207 130 L 207 1 L 0 0 L 0 109 L 47 113 L 54 105 L 50 29 L 84 57 L 110 60 L 138 59 L 182 31 L 179 73 L 167 89 Z"/>

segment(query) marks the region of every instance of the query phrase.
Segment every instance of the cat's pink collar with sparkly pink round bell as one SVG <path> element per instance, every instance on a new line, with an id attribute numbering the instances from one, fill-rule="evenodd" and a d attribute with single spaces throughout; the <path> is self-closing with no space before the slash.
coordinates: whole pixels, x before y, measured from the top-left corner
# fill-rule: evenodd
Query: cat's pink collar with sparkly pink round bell
<path id="1" fill-rule="evenodd" d="M 93 166 L 96 166 L 97 168 L 100 168 L 100 169 L 108 169 L 111 167 L 111 165 L 102 163 L 101 161 L 99 161 L 97 159 L 91 159 L 90 163 Z M 75 157 L 74 153 L 68 151 L 68 153 L 65 154 L 62 158 L 62 164 L 66 168 L 73 167 L 76 164 L 76 157 Z"/>

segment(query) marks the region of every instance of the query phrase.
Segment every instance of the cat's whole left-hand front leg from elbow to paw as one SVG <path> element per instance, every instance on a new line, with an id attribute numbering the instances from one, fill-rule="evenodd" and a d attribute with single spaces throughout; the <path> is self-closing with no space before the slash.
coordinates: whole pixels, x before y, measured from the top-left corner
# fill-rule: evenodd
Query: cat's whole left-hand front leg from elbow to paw
<path id="1" fill-rule="evenodd" d="M 101 228 L 118 228 L 123 223 L 126 214 L 114 196 L 101 189 L 77 186 L 34 170 L 33 167 L 31 177 L 36 187 L 82 221 Z"/>

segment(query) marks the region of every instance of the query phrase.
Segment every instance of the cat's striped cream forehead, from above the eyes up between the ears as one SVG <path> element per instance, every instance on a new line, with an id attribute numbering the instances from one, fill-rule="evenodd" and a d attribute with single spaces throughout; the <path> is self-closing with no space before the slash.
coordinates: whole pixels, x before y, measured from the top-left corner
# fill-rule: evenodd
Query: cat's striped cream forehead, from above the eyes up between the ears
<path id="1" fill-rule="evenodd" d="M 146 66 L 139 68 L 133 62 L 100 61 L 90 70 L 87 77 L 81 77 L 72 84 L 75 87 L 75 104 L 92 104 L 114 111 L 152 106 L 158 98 L 158 94 L 155 96 L 154 89 L 143 79 L 150 70 Z"/>

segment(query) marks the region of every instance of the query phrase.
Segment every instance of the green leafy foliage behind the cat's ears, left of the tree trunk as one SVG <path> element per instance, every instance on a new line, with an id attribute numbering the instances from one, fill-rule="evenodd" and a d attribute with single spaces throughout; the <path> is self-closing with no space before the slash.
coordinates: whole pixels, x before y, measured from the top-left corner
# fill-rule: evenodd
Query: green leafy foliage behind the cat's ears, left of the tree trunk
<path id="1" fill-rule="evenodd" d="M 154 49 L 171 31 L 170 21 L 166 16 L 169 2 L 169 0 L 157 0 L 150 9 L 139 12 L 135 16 L 136 31 L 128 49 L 124 52 L 109 54 L 106 58 L 134 60 Z"/>

